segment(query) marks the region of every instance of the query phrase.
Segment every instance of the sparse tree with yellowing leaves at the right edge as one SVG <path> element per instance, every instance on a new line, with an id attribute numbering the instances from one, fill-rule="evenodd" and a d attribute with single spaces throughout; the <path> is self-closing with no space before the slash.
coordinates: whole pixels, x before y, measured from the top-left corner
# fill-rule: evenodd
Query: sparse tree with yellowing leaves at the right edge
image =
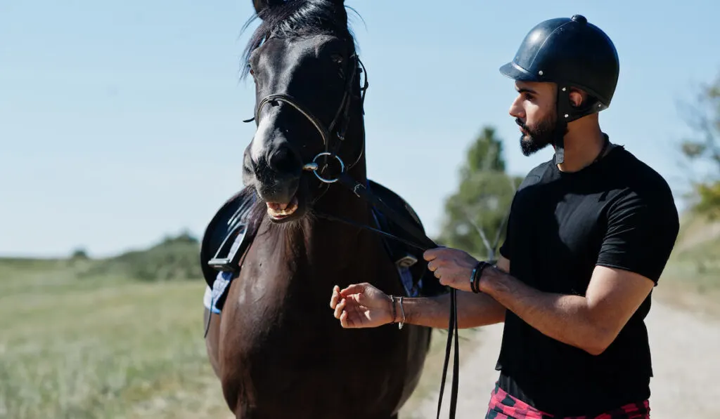
<path id="1" fill-rule="evenodd" d="M 692 167 L 708 168 L 708 174 L 690 180 L 691 208 L 710 218 L 720 217 L 720 74 L 710 85 L 701 86 L 696 105 L 690 106 L 687 121 L 695 137 L 680 144 Z"/>

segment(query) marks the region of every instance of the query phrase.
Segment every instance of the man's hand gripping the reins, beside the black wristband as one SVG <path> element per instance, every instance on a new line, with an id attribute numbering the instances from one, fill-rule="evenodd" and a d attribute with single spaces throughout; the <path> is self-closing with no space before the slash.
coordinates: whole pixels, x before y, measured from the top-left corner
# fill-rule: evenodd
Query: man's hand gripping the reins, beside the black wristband
<path id="1" fill-rule="evenodd" d="M 474 257 L 458 249 L 438 247 L 427 250 L 423 259 L 428 261 L 428 270 L 431 270 L 442 285 L 453 287 L 457 290 L 472 291 L 470 287 L 470 275 L 478 264 Z"/>

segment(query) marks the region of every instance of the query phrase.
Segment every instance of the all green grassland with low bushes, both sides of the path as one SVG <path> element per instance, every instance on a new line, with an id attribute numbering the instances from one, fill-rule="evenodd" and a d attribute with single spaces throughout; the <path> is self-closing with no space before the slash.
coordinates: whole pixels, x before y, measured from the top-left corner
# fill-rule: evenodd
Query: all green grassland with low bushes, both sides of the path
<path id="1" fill-rule="evenodd" d="M 176 279 L 197 275 L 196 254 L 170 240 L 101 261 L 0 259 L 0 418 L 231 418 L 205 355 L 204 282 Z M 720 314 L 717 254 L 719 239 L 683 237 L 659 297 Z M 477 337 L 461 336 L 462 358 Z M 405 413 L 438 390 L 445 340 Z"/>

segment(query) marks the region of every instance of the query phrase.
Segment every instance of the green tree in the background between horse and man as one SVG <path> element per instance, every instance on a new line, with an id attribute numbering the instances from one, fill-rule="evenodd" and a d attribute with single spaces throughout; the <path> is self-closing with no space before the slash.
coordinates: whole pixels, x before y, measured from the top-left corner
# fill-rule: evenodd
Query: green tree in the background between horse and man
<path id="1" fill-rule="evenodd" d="M 492 126 L 482 128 L 460 167 L 458 189 L 445 201 L 439 238 L 444 245 L 477 257 L 495 259 L 505 237 L 505 222 L 522 178 L 505 172 L 503 143 Z"/>

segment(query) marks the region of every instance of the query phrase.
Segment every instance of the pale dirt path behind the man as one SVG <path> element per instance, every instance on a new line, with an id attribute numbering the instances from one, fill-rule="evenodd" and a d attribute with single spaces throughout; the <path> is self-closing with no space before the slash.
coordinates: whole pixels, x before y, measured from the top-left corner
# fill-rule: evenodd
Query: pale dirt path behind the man
<path id="1" fill-rule="evenodd" d="M 647 317 L 654 378 L 651 382 L 653 419 L 720 418 L 720 322 L 708 321 L 657 300 Z M 490 391 L 498 377 L 495 360 L 503 326 L 483 328 L 482 344 L 461 352 L 457 419 L 485 418 Z M 441 418 L 448 417 L 450 372 Z M 437 394 L 410 418 L 435 418 Z"/>

